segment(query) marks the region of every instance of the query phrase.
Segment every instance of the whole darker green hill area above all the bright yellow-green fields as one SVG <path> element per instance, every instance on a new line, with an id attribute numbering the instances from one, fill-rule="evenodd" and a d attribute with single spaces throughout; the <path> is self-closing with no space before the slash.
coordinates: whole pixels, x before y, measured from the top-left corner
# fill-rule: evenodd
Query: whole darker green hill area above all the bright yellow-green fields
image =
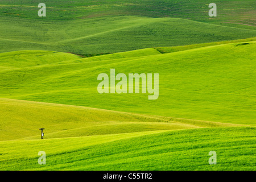
<path id="1" fill-rule="evenodd" d="M 254 1 L 0 2 L 0 52 L 48 50 L 79 55 L 184 46 L 256 36 Z M 6 31 L 8 30 L 8 31 Z"/>

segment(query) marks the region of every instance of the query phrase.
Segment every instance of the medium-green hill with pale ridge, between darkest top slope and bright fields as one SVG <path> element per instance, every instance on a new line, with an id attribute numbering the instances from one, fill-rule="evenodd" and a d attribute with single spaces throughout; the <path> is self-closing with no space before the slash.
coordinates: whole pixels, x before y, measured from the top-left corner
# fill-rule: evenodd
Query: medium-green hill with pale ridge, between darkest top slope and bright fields
<path id="1" fill-rule="evenodd" d="M 0 24 L 0 52 L 43 49 L 87 55 L 256 36 L 256 30 L 179 18 L 138 16 L 106 16 L 67 22 L 6 17 L 0 18 Z"/>

